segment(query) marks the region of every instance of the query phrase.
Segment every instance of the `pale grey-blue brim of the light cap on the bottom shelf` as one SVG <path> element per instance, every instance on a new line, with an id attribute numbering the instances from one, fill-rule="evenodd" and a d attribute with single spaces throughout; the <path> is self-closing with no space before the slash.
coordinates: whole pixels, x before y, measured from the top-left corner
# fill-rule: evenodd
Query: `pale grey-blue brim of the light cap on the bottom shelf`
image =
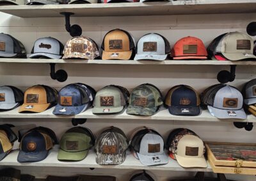
<path id="1" fill-rule="evenodd" d="M 145 166 L 152 166 L 152 165 L 159 165 L 159 164 L 167 164 L 168 163 L 168 157 L 163 152 L 163 154 L 156 155 L 156 156 L 144 156 L 139 153 L 137 153 L 137 156 L 140 159 L 140 162 L 144 164 Z M 159 157 L 160 161 L 155 162 L 153 157 Z"/>

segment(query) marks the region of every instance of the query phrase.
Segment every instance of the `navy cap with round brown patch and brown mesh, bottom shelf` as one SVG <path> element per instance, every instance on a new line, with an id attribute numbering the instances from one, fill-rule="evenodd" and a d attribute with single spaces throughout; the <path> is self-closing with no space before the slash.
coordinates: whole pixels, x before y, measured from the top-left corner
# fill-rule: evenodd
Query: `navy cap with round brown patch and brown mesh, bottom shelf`
<path id="1" fill-rule="evenodd" d="M 29 131 L 20 141 L 19 163 L 44 160 L 52 148 L 52 139 L 48 134 L 40 131 Z"/>

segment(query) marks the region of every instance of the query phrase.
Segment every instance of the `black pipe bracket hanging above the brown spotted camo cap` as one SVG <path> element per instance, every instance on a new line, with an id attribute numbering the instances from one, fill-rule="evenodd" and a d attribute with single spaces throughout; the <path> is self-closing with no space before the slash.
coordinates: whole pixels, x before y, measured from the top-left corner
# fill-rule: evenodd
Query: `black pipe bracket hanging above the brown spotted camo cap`
<path id="1" fill-rule="evenodd" d="M 74 13 L 62 12 L 62 13 L 60 13 L 60 14 L 65 16 L 65 27 L 66 27 L 67 32 L 68 32 L 72 37 L 81 36 L 81 34 L 82 34 L 82 28 L 81 28 L 79 25 L 77 25 L 77 24 L 70 25 L 70 16 L 71 16 L 71 15 L 74 15 Z"/>

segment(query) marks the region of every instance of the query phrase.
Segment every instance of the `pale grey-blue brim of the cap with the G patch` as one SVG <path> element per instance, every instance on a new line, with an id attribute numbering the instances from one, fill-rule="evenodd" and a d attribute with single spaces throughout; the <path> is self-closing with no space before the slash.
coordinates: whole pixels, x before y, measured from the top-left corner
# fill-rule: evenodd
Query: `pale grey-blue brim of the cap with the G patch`
<path id="1" fill-rule="evenodd" d="M 218 119 L 246 119 L 246 113 L 244 112 L 243 108 L 240 110 L 223 110 L 214 108 L 212 106 L 207 106 L 211 115 Z M 228 112 L 235 112 L 236 115 L 228 115 Z"/>

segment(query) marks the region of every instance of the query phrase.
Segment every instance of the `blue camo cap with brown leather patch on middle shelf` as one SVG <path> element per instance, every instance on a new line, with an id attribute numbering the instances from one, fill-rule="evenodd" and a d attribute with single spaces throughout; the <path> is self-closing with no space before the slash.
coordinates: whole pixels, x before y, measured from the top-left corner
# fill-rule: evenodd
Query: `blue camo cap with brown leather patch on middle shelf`
<path id="1" fill-rule="evenodd" d="M 76 83 L 63 87 L 59 92 L 58 105 L 55 106 L 53 113 L 56 115 L 77 115 L 90 108 L 93 103 L 93 96 L 90 94 L 90 90 L 85 91 L 84 89 Z"/>

